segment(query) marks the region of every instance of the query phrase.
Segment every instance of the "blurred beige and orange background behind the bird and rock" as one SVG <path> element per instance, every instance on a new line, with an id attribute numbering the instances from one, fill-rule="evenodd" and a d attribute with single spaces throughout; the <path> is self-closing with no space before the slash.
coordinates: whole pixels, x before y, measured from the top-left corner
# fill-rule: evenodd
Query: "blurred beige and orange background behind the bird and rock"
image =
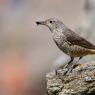
<path id="1" fill-rule="evenodd" d="M 52 17 L 95 44 L 95 0 L 0 0 L 0 95 L 45 95 L 45 74 L 69 61 L 35 23 Z"/>

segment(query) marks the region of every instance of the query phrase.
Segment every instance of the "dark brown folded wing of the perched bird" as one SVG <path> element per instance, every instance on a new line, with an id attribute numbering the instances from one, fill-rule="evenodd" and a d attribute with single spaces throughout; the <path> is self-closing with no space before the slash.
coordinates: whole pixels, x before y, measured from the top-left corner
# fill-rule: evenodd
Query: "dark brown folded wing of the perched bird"
<path id="1" fill-rule="evenodd" d="M 82 46 L 88 49 L 94 49 L 95 46 L 90 42 L 86 41 L 84 38 L 78 36 L 78 34 L 74 33 L 72 30 L 67 29 L 64 32 L 64 35 L 67 37 L 67 41 L 70 42 L 72 45 Z"/>

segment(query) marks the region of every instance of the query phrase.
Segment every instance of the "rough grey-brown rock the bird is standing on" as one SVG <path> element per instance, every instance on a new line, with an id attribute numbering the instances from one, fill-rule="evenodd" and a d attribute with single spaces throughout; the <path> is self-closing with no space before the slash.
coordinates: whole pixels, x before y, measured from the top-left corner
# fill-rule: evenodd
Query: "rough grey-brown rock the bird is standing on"
<path id="1" fill-rule="evenodd" d="M 57 75 L 46 75 L 48 95 L 95 95 L 95 62 L 77 64 L 70 74 L 64 75 L 66 69 L 59 69 Z"/>

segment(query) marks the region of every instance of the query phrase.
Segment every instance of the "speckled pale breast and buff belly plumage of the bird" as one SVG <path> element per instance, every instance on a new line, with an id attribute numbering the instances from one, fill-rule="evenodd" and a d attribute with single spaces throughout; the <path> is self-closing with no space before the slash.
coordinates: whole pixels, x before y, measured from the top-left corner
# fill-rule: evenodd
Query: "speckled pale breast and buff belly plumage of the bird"
<path id="1" fill-rule="evenodd" d="M 66 31 L 66 30 L 65 30 Z M 53 40 L 57 44 L 57 46 L 66 53 L 69 56 L 73 57 L 80 57 L 80 56 L 85 56 L 88 54 L 92 54 L 92 49 L 91 46 L 89 48 L 83 47 L 82 45 L 78 45 L 79 41 L 77 41 L 77 44 L 73 44 L 73 42 L 68 41 L 67 36 L 65 36 L 65 32 L 62 31 L 62 34 L 58 33 L 52 33 Z M 83 44 L 84 45 L 84 44 Z M 95 53 L 95 51 L 94 51 Z"/>

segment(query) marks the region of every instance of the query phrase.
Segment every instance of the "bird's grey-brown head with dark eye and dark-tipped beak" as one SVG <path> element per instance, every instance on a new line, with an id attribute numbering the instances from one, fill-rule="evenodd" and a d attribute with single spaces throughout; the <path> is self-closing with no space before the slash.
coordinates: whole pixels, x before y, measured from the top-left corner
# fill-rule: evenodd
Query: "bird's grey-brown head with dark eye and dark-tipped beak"
<path id="1" fill-rule="evenodd" d="M 55 29 L 58 30 L 58 29 L 65 28 L 65 25 L 63 24 L 63 22 L 55 18 L 47 19 L 45 21 L 37 21 L 36 24 L 47 26 L 51 30 L 51 32 L 53 32 L 53 30 Z"/>

